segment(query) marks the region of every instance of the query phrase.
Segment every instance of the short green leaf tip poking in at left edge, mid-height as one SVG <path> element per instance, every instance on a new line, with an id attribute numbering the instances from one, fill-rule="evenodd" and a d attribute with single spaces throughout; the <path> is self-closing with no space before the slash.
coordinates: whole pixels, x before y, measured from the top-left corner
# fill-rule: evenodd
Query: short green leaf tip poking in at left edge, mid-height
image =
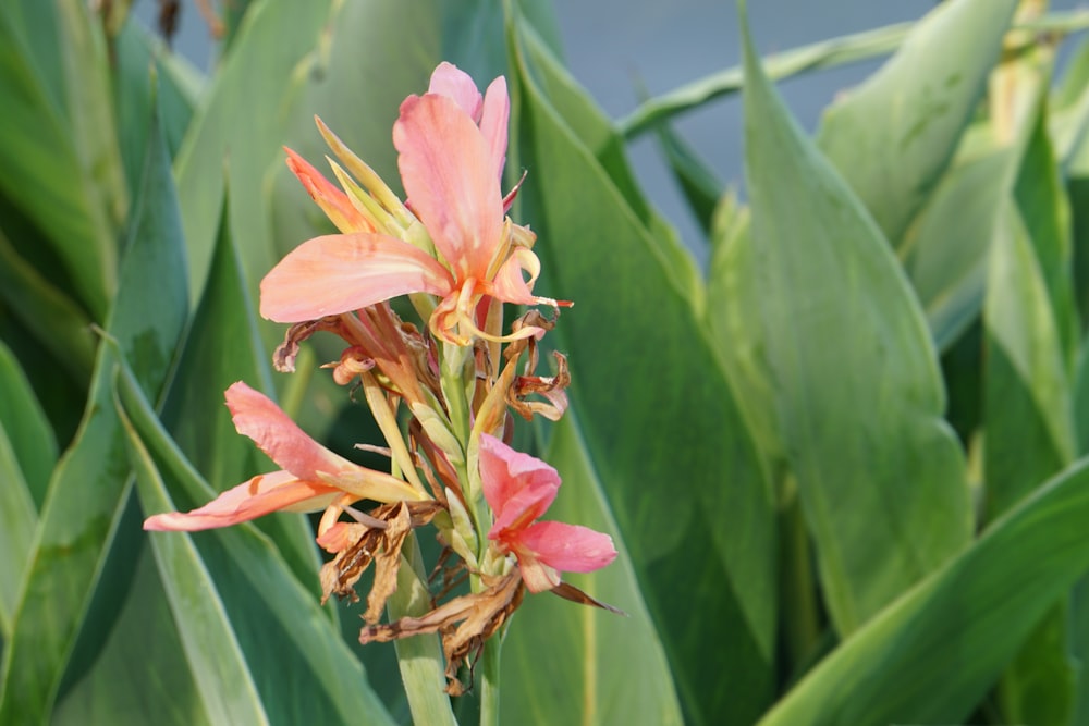
<path id="1" fill-rule="evenodd" d="M 57 466 L 57 440 L 19 361 L 0 341 L 0 423 L 8 431 L 34 510 L 41 508 Z"/>

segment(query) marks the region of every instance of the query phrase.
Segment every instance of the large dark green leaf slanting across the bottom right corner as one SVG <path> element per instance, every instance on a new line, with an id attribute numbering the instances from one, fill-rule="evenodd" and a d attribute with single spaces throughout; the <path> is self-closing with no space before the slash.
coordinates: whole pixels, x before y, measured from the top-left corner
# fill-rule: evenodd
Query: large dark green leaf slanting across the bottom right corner
<path id="1" fill-rule="evenodd" d="M 960 724 L 1089 570 L 1089 465 L 1055 477 L 824 659 L 761 726 Z"/>

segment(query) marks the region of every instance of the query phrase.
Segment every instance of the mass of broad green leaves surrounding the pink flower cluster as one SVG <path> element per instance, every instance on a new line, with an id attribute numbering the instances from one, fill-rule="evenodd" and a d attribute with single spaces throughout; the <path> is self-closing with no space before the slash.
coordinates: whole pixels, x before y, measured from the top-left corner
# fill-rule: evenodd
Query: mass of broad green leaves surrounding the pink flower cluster
<path id="1" fill-rule="evenodd" d="M 123 1 L 0 5 L 0 723 L 412 718 L 305 517 L 140 521 L 269 466 L 236 380 L 380 443 L 329 341 L 270 371 L 257 284 L 330 230 L 280 147 L 318 161 L 320 115 L 396 186 L 397 107 L 450 60 L 506 75 L 512 214 L 576 302 L 571 410 L 518 435 L 621 551 L 573 581 L 628 613 L 529 598 L 504 723 L 1089 724 L 1086 12 L 947 0 L 762 59 L 742 14 L 741 66 L 617 120 L 549 3 L 199 7 L 207 73 Z M 769 79 L 862 59 L 815 134 Z M 675 122 L 742 91 L 738 193 Z"/>

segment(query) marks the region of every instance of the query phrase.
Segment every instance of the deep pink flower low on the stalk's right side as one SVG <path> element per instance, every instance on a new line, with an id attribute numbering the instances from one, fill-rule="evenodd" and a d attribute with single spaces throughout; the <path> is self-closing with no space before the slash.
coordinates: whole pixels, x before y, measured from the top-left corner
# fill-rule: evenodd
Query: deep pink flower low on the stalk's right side
<path id="1" fill-rule="evenodd" d="M 560 475 L 495 436 L 480 436 L 484 495 L 495 513 L 488 539 L 518 559 L 530 592 L 560 585 L 560 573 L 590 573 L 616 557 L 612 538 L 587 527 L 536 521 L 555 500 Z"/>

